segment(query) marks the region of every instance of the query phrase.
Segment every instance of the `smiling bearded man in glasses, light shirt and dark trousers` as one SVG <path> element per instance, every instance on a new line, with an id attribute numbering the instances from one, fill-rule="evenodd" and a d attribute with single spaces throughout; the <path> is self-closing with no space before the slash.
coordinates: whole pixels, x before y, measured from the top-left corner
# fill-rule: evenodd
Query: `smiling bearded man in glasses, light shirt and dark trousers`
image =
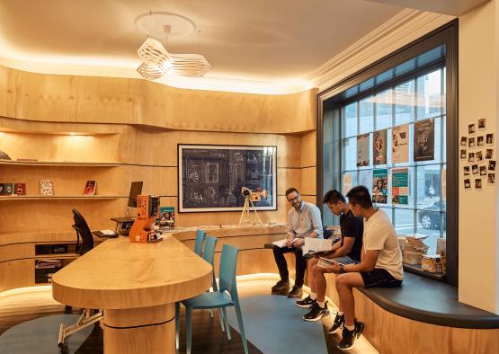
<path id="1" fill-rule="evenodd" d="M 288 242 L 284 247 L 273 247 L 273 256 L 279 268 L 281 280 L 272 287 L 272 292 L 281 292 L 282 289 L 290 287 L 288 263 L 284 258 L 284 253 L 294 252 L 296 279 L 288 297 L 301 297 L 303 278 L 307 269 L 307 261 L 303 258 L 301 246 L 305 244 L 305 237 L 323 238 L 322 221 L 319 208 L 303 201 L 296 188 L 286 190 L 286 199 L 292 207 L 288 213 Z"/>

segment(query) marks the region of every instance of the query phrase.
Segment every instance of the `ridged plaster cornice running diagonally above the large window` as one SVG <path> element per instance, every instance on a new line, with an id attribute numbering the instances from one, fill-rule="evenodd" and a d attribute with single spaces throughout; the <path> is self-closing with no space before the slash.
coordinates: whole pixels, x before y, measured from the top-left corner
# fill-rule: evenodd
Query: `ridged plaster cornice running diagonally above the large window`
<path id="1" fill-rule="evenodd" d="M 307 81 L 317 87 L 319 92 L 324 91 L 362 67 L 450 22 L 453 18 L 440 13 L 405 9 L 319 66 L 314 73 L 307 76 Z"/>

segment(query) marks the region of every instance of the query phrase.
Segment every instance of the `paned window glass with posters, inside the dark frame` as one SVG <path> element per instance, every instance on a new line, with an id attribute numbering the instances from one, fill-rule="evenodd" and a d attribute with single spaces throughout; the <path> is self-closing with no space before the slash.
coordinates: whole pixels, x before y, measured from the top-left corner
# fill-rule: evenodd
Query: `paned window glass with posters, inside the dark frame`
<path id="1" fill-rule="evenodd" d="M 397 234 L 426 237 L 429 254 L 437 252 L 437 241 L 446 234 L 444 77 L 445 67 L 432 69 L 340 109 L 343 193 L 353 185 L 368 187 Z M 433 158 L 422 162 L 414 161 L 418 144 L 414 125 L 419 121 L 431 128 L 433 137 L 426 142 Z M 359 165 L 360 154 L 367 164 Z"/>

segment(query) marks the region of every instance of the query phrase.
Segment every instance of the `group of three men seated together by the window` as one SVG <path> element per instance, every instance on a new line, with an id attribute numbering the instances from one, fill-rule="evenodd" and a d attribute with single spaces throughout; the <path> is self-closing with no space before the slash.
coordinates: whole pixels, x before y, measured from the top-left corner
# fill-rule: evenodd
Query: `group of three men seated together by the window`
<path id="1" fill-rule="evenodd" d="M 323 226 L 319 208 L 303 201 L 295 188 L 286 190 L 286 198 L 292 207 L 288 214 L 286 246 L 273 247 L 281 280 L 272 287 L 272 292 L 290 287 L 284 253 L 294 252 L 296 279 L 288 296 L 299 298 L 296 305 L 308 308 L 307 314 L 303 315 L 305 321 L 318 321 L 329 315 L 325 301 L 325 273 L 337 274 L 334 285 L 339 297 L 338 312 L 329 333 L 342 332 L 338 344 L 340 349 L 351 348 L 363 331 L 363 324 L 355 320 L 352 288 L 397 288 L 404 277 L 397 234 L 387 214 L 374 208 L 370 192 L 364 186 L 352 188 L 346 197 L 348 202 L 337 190 L 325 193 L 323 203 L 340 217 L 341 239 L 333 244 L 331 251 L 316 253 L 310 260 L 310 295 L 301 299 L 307 268 L 301 246 L 306 237 L 323 238 Z M 331 266 L 319 267 L 319 257 L 334 261 Z"/>

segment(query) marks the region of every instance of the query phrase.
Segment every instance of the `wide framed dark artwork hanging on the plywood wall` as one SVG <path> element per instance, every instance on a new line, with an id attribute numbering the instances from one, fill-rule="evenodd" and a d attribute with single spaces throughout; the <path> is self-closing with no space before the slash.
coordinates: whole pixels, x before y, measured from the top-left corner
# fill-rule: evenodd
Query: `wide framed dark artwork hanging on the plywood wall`
<path id="1" fill-rule="evenodd" d="M 277 146 L 178 145 L 179 212 L 277 210 Z"/>

